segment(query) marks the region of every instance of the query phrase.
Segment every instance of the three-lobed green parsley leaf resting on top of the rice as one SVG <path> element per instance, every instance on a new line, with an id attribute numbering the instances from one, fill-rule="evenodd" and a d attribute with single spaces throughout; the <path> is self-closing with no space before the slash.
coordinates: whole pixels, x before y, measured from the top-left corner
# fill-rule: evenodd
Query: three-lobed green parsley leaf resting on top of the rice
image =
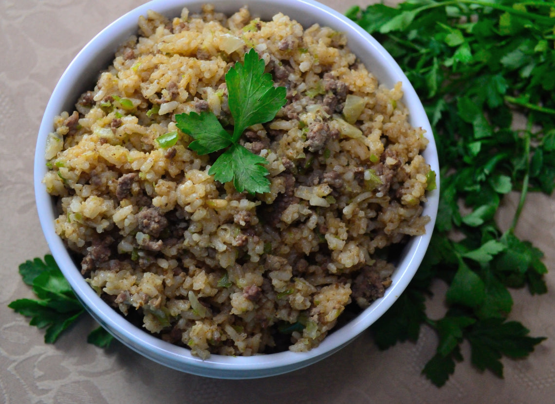
<path id="1" fill-rule="evenodd" d="M 252 125 L 274 119 L 285 105 L 285 87 L 274 87 L 270 73 L 264 73 L 265 63 L 254 49 L 245 54 L 244 63 L 236 63 L 225 75 L 228 102 L 234 120 L 230 134 L 212 112 L 175 115 L 177 127 L 193 140 L 189 148 L 196 153 L 209 154 L 225 149 L 208 173 L 216 181 L 233 181 L 239 192 L 251 194 L 270 191 L 268 160 L 241 146 L 239 138 Z"/>

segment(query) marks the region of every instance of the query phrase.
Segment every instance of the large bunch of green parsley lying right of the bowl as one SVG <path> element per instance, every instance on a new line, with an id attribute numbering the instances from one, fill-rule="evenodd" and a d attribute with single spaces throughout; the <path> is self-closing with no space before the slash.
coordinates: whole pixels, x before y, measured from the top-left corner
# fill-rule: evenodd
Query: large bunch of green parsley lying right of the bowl
<path id="1" fill-rule="evenodd" d="M 508 320 L 513 287 L 546 292 L 543 253 L 514 233 L 529 191 L 555 188 L 555 8 L 532 0 L 411 0 L 354 7 L 347 16 L 400 64 L 425 105 L 441 167 L 440 209 L 415 278 L 372 326 L 381 349 L 437 331 L 423 369 L 443 385 L 463 360 L 502 377 L 502 356 L 526 357 L 542 337 Z M 513 118 L 523 117 L 517 127 Z M 504 195 L 520 193 L 502 231 L 494 216 Z M 446 282 L 448 310 L 426 314 L 434 280 Z"/>

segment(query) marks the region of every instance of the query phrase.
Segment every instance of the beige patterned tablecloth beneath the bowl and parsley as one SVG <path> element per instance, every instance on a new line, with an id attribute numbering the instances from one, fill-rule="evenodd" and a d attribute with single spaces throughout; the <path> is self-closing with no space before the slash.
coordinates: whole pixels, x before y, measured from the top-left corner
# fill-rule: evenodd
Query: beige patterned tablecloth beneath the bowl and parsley
<path id="1" fill-rule="evenodd" d="M 364 0 L 324 0 L 344 12 Z M 526 360 L 503 360 L 504 380 L 465 361 L 442 388 L 421 376 L 436 349 L 423 328 L 416 344 L 380 352 L 368 332 L 310 367 L 261 380 L 191 376 L 151 362 L 115 342 L 104 351 L 85 342 L 94 322 L 80 321 L 54 345 L 7 305 L 32 297 L 17 272 L 48 252 L 33 196 L 33 153 L 48 98 L 70 60 L 100 29 L 143 0 L 0 1 L 0 402 L 23 403 L 553 403 L 555 402 L 555 271 L 549 293 L 515 291 L 512 319 L 547 336 Z M 502 221 L 514 211 L 506 201 Z M 555 264 L 554 198 L 532 195 L 517 232 Z M 441 284 L 439 292 L 445 291 Z M 430 302 L 442 312 L 442 302 Z"/>

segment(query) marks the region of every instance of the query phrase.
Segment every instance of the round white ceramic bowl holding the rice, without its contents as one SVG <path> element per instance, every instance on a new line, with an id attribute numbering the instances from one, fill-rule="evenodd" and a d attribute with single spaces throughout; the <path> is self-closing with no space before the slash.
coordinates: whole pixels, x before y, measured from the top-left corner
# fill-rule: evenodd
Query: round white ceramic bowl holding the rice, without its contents
<path id="1" fill-rule="evenodd" d="M 438 190 L 429 193 L 428 202 L 424 208 L 423 214 L 432 218 L 426 226 L 426 234 L 412 238 L 403 250 L 397 269 L 392 275 L 393 283 L 386 290 L 385 296 L 372 303 L 354 320 L 327 336 L 319 347 L 309 352 L 287 351 L 251 357 L 211 355 L 207 360 L 201 360 L 192 356 L 189 350 L 159 340 L 130 324 L 100 299 L 85 282 L 62 240 L 55 233 L 54 206 L 41 182 L 46 174 L 44 161 L 46 138 L 48 133 L 53 130 L 54 117 L 64 110 L 73 110 L 79 95 L 93 87 L 98 72 L 108 66 L 119 44 L 137 32 L 139 16 L 145 15 L 148 9 L 153 9 L 168 17 L 179 16 L 183 7 L 188 7 L 191 11 L 199 11 L 201 4 L 205 2 L 201 0 L 153 0 L 117 19 L 79 52 L 56 85 L 39 129 L 34 164 L 37 208 L 52 255 L 78 299 L 94 319 L 123 344 L 165 366 L 196 375 L 236 379 L 278 375 L 310 365 L 341 349 L 366 330 L 395 302 L 412 279 L 426 252 L 437 214 Z M 402 82 L 403 101 L 410 111 L 410 122 L 412 125 L 426 130 L 430 144 L 424 152 L 424 156 L 432 169 L 439 173 L 437 150 L 430 123 L 415 90 L 386 50 L 355 23 L 333 9 L 312 0 L 211 0 L 210 3 L 215 4 L 217 11 L 226 14 L 233 13 L 244 4 L 248 4 L 251 14 L 263 19 L 270 19 L 275 13 L 282 12 L 299 21 L 305 28 L 319 23 L 321 26 L 329 26 L 337 31 L 345 32 L 349 39 L 348 46 L 376 75 L 380 83 L 392 87 L 394 83 Z"/>

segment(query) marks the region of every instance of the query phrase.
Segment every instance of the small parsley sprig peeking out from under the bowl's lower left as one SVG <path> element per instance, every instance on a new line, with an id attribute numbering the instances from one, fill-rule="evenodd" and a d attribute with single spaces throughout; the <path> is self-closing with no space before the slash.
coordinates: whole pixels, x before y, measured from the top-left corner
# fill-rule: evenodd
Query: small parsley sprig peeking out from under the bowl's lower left
<path id="1" fill-rule="evenodd" d="M 38 299 L 14 300 L 8 307 L 31 317 L 30 325 L 46 328 L 44 342 L 53 344 L 85 310 L 52 255 L 44 256 L 44 261 L 35 258 L 24 262 L 19 265 L 19 274 L 23 282 L 32 286 Z M 112 339 L 112 335 L 99 326 L 89 334 L 87 341 L 104 348 L 108 347 Z"/>

